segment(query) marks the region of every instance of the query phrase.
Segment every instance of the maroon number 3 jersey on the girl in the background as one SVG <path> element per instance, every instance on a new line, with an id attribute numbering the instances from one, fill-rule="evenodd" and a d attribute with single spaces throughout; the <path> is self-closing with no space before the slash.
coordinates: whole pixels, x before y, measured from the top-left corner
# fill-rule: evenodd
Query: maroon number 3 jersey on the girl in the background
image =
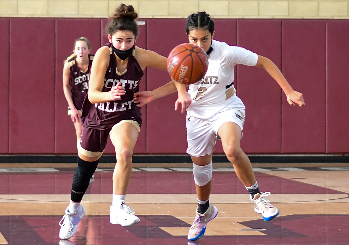
<path id="1" fill-rule="evenodd" d="M 76 57 L 68 60 L 68 64 L 70 65 L 70 91 L 72 92 L 74 106 L 78 110 L 81 110 L 82 103 L 84 102 L 85 96 L 87 94 L 93 57 L 93 55 L 88 55 L 89 64 L 88 69 L 85 72 L 81 71 L 77 66 Z"/>

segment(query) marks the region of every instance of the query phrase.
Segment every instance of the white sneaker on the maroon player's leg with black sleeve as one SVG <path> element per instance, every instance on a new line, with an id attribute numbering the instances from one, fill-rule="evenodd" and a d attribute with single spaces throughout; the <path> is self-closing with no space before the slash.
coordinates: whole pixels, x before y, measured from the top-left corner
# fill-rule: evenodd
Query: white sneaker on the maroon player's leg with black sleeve
<path id="1" fill-rule="evenodd" d="M 85 215 L 86 210 L 82 205 L 76 212 L 69 212 L 68 208 L 65 210 L 65 215 L 59 222 L 61 229 L 59 230 L 60 239 L 69 239 L 74 236 L 77 230 L 77 225 L 82 217 Z"/>

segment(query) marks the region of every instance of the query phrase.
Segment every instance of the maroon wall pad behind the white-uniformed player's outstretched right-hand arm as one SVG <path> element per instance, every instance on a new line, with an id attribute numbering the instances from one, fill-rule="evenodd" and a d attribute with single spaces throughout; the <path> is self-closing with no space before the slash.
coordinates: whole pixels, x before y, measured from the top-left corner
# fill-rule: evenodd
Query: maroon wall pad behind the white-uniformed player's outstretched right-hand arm
<path id="1" fill-rule="evenodd" d="M 237 45 L 281 69 L 281 20 L 238 20 Z M 281 151 L 281 89 L 261 67 L 237 65 L 237 95 L 246 106 L 241 147 L 246 153 Z"/>

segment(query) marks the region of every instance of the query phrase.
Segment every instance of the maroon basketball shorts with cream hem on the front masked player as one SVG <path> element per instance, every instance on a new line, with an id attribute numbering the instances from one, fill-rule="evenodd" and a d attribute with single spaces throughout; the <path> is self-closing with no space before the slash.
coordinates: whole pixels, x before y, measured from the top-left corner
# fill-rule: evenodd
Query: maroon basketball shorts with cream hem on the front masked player
<path id="1" fill-rule="evenodd" d="M 140 131 L 140 122 L 133 119 L 121 120 L 107 129 L 92 129 L 86 126 L 82 127 L 80 144 L 77 144 L 77 150 L 87 157 L 100 157 L 107 145 L 110 132 L 115 130 L 122 123 L 132 123 Z"/>

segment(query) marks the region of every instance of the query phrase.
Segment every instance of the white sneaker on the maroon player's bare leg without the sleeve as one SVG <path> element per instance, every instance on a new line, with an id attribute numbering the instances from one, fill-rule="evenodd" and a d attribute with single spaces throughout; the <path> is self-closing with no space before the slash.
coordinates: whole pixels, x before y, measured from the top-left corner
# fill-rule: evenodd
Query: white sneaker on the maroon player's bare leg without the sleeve
<path id="1" fill-rule="evenodd" d="M 128 226 L 141 222 L 134 213 L 134 209 L 127 205 L 122 206 L 122 208 L 110 206 L 110 223 Z"/>

